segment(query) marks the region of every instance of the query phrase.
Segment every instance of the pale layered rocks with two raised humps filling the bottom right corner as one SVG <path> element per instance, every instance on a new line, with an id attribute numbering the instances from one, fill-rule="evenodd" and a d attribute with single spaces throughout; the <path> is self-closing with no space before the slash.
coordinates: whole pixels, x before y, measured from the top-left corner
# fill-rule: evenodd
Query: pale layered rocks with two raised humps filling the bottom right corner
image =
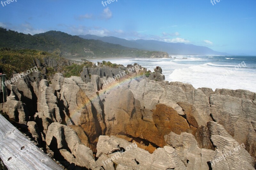
<path id="1" fill-rule="evenodd" d="M 173 132 L 164 138 L 167 145 L 175 148 L 188 169 L 254 169 L 255 161 L 228 132 L 216 122 L 208 122 L 211 141 L 216 150 L 201 149 L 190 133 L 177 135 Z"/>

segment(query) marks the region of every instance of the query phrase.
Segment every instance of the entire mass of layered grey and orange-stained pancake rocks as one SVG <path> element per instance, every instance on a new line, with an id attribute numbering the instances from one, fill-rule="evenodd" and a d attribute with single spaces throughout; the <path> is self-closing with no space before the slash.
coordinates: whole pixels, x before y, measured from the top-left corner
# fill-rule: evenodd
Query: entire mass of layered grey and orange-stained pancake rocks
<path id="1" fill-rule="evenodd" d="M 256 93 L 195 89 L 164 81 L 160 67 L 149 77 L 143 75 L 147 69 L 136 68 L 84 68 L 71 78 L 56 73 L 50 85 L 26 76 L 8 86 L 2 110 L 28 124 L 48 152 L 80 167 L 255 168 Z M 37 113 L 28 112 L 34 108 L 29 100 L 36 100 Z"/>

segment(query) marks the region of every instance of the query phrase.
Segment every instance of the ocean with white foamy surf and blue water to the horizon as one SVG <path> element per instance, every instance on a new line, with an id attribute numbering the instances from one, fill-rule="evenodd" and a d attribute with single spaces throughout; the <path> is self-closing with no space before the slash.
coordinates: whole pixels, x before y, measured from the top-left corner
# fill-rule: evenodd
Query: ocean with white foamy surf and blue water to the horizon
<path id="1" fill-rule="evenodd" d="M 176 57 L 176 58 L 174 58 Z M 185 59 L 187 58 L 187 59 Z M 102 60 L 92 60 L 92 62 Z M 195 88 L 244 89 L 256 92 L 256 56 L 172 56 L 172 58 L 106 59 L 111 63 L 138 63 L 154 71 L 156 66 L 163 70 L 167 81 L 189 83 Z"/>

